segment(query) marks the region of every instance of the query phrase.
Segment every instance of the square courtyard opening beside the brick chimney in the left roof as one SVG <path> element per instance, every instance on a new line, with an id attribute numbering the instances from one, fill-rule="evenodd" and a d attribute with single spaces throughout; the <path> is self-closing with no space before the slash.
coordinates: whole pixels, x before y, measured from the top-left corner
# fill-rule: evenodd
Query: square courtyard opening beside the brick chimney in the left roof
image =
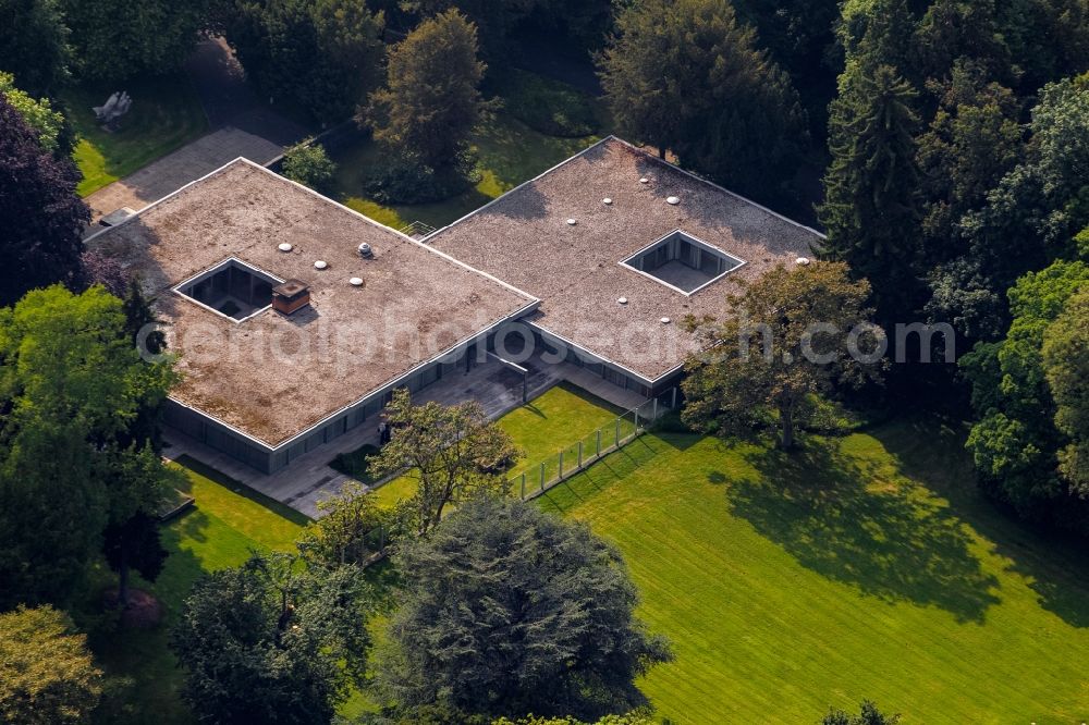
<path id="1" fill-rule="evenodd" d="M 272 305 L 272 287 L 281 282 L 283 280 L 232 257 L 182 282 L 174 291 L 242 322 Z"/>

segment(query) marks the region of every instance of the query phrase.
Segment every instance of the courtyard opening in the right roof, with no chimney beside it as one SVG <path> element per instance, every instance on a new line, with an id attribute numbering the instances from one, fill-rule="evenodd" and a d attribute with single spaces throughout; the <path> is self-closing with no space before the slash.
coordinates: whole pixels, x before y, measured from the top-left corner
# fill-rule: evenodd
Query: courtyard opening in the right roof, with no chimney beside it
<path id="1" fill-rule="evenodd" d="M 744 263 L 681 230 L 670 232 L 621 262 L 686 295 Z"/>

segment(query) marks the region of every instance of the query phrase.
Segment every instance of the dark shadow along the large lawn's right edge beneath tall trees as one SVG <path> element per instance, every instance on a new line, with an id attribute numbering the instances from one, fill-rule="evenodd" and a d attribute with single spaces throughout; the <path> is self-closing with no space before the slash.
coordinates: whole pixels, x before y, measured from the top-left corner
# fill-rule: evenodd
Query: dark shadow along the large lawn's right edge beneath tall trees
<path id="1" fill-rule="evenodd" d="M 976 484 L 971 460 L 964 452 L 965 431 L 910 421 L 883 426 L 871 434 L 896 456 L 906 476 L 946 497 L 994 553 L 1010 563 L 1008 570 L 1026 578 L 1041 607 L 1073 627 L 1089 627 L 1086 542 L 1033 528 L 989 500 Z M 943 465 L 927 465 L 935 456 Z"/>

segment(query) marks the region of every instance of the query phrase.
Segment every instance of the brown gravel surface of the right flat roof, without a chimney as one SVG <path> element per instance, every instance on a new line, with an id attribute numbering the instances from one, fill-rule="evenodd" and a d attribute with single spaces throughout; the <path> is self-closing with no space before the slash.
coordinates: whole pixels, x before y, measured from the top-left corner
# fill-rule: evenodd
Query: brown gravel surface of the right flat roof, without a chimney
<path id="1" fill-rule="evenodd" d="M 745 263 L 692 295 L 621 265 L 677 230 Z M 686 315 L 722 315 L 738 280 L 811 256 L 821 239 L 609 137 L 440 230 L 428 244 L 539 297 L 534 321 L 548 332 L 656 380 L 697 349 L 681 325 Z"/>

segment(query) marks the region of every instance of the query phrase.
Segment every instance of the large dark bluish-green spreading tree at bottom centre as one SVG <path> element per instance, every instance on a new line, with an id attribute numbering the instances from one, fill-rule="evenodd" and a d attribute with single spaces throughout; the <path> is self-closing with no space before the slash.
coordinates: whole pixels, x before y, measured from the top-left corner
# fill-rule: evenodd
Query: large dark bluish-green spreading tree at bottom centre
<path id="1" fill-rule="evenodd" d="M 620 553 L 521 501 L 466 502 L 395 563 L 405 588 L 377 677 L 402 711 L 626 710 L 635 678 L 669 658 L 635 617 Z"/>

